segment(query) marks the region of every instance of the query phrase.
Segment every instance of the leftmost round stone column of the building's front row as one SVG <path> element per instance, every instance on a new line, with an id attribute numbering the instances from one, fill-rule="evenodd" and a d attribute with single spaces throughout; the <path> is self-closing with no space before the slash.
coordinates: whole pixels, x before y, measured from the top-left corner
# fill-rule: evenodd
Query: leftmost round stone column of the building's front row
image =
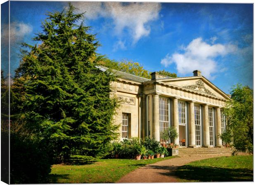
<path id="1" fill-rule="evenodd" d="M 159 127 L 159 94 L 153 95 L 153 112 L 154 112 L 154 118 L 153 118 L 153 137 L 156 139 L 156 141 L 160 141 L 160 127 Z"/>

